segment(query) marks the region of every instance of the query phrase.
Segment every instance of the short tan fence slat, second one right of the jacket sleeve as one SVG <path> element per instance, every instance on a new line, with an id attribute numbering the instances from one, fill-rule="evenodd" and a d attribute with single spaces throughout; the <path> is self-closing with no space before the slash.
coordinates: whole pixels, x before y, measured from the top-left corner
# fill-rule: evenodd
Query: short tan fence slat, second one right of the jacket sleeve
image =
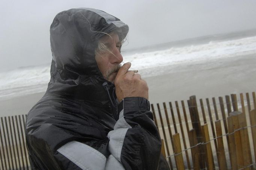
<path id="1" fill-rule="evenodd" d="M 175 152 L 175 162 L 178 170 L 185 170 L 184 161 L 181 150 L 181 141 L 179 139 L 179 134 L 176 133 L 173 135 L 173 143 L 174 143 L 174 152 Z"/>

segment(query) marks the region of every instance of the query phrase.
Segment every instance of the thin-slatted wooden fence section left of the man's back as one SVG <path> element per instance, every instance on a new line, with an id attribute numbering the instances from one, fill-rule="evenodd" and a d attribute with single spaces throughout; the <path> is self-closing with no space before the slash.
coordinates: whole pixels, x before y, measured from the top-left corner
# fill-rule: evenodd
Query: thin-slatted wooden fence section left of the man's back
<path id="1" fill-rule="evenodd" d="M 0 169 L 30 170 L 25 141 L 26 115 L 0 119 Z"/>

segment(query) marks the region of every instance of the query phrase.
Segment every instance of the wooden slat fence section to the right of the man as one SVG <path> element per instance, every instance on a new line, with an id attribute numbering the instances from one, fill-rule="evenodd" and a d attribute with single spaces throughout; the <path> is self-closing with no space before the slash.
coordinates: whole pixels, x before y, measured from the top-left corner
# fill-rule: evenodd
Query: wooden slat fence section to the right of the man
<path id="1" fill-rule="evenodd" d="M 256 168 L 255 92 L 224 99 L 198 102 L 191 96 L 187 105 L 181 101 L 179 107 L 175 101 L 175 107 L 169 102 L 170 108 L 163 103 L 157 104 L 157 110 L 151 104 L 171 169 Z"/>

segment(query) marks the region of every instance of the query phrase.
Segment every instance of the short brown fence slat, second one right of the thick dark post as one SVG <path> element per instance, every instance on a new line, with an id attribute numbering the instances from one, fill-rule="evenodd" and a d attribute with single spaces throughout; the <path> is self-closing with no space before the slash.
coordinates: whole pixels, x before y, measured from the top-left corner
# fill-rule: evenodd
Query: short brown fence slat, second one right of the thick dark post
<path id="1" fill-rule="evenodd" d="M 215 128 L 216 128 L 216 136 L 217 136 L 217 142 L 218 142 L 218 151 L 217 151 L 218 162 L 219 162 L 220 170 L 225 170 L 227 169 L 227 162 L 226 162 L 220 120 L 215 121 Z"/>

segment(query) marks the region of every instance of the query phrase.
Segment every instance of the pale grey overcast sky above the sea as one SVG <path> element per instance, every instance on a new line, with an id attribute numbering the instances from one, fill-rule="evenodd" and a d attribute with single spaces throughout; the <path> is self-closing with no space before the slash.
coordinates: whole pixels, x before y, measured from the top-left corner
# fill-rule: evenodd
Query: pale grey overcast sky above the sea
<path id="1" fill-rule="evenodd" d="M 255 0 L 1 0 L 0 5 L 0 71 L 50 63 L 50 24 L 71 8 L 101 9 L 128 24 L 124 50 L 256 29 Z"/>

